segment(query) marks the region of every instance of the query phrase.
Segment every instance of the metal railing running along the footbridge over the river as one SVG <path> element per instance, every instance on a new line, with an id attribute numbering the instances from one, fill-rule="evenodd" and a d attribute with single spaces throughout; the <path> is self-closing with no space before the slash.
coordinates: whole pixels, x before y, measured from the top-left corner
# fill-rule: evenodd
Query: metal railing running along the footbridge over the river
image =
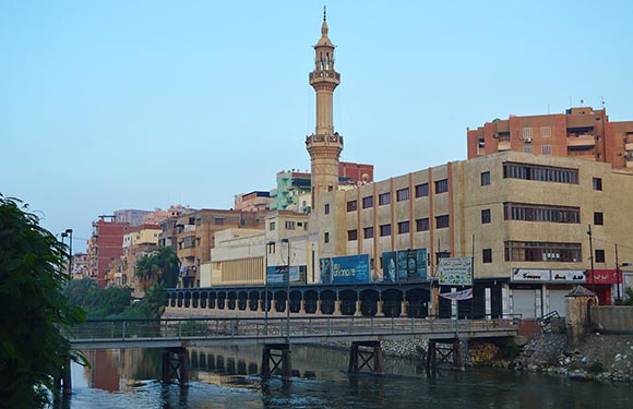
<path id="1" fill-rule="evenodd" d="M 95 320 L 75 326 L 73 341 L 202 338 L 344 337 L 350 335 L 459 334 L 516 327 L 513 320 L 319 316 L 264 318 Z"/>

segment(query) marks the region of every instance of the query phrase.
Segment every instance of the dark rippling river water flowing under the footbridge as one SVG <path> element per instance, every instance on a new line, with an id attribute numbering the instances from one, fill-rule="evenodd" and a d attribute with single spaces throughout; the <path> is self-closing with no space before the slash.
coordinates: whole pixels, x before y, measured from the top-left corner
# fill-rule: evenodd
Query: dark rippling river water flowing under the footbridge
<path id="1" fill-rule="evenodd" d="M 292 347 L 294 378 L 259 375 L 261 347 L 193 349 L 188 388 L 163 384 L 158 350 L 88 351 L 92 368 L 74 365 L 71 409 L 207 408 L 631 408 L 630 384 L 583 383 L 503 369 L 439 371 L 385 359 L 385 376 L 348 375 L 348 354 Z"/>

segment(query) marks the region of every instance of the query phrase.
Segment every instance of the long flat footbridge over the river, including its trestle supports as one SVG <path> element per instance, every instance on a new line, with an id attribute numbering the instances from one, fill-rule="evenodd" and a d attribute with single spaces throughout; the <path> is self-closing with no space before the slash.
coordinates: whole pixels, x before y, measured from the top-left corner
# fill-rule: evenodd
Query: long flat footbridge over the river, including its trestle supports
<path id="1" fill-rule="evenodd" d="M 517 334 L 514 320 L 434 317 L 294 316 L 96 320 L 73 328 L 73 349 L 162 348 L 163 381 L 189 381 L 187 348 L 262 345 L 262 376 L 278 373 L 291 381 L 291 345 L 350 342 L 350 372 L 383 374 L 381 341 L 428 339 L 427 369 L 442 362 L 463 369 L 462 341 Z M 447 346 L 447 348 L 446 348 Z M 438 362 L 438 354 L 440 362 Z"/>

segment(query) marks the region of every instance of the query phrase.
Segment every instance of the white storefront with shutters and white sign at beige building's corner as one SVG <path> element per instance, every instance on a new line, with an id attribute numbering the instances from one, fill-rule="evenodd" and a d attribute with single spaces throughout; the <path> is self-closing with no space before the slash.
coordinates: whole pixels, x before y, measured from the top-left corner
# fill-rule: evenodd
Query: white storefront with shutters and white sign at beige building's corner
<path id="1" fill-rule="evenodd" d="M 585 273 L 577 269 L 514 268 L 511 277 L 512 314 L 523 318 L 540 318 L 553 311 L 564 316 L 565 294 L 586 282 Z"/>

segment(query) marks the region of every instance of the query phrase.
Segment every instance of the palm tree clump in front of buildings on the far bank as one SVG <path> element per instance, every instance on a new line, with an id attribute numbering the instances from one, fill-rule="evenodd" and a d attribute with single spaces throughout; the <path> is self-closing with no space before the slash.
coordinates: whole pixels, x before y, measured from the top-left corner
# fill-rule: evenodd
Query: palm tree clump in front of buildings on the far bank
<path id="1" fill-rule="evenodd" d="M 171 248 L 158 248 L 148 255 L 136 261 L 136 277 L 143 282 L 146 290 L 154 282 L 165 288 L 174 288 L 178 282 L 180 262 Z"/>

